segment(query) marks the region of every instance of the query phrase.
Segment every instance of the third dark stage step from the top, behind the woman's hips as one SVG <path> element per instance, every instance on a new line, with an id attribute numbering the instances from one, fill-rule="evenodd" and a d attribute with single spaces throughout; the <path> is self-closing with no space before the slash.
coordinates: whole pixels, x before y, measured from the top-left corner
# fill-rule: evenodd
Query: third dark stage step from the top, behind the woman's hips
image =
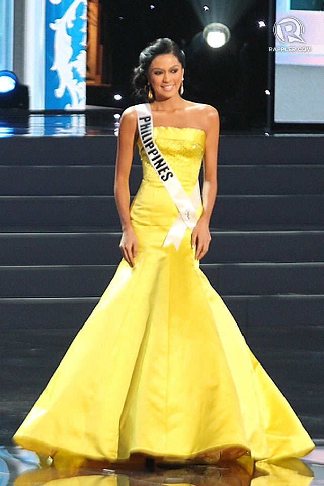
<path id="1" fill-rule="evenodd" d="M 324 225 L 324 195 L 218 196 L 211 226 L 228 222 Z M 9 225 L 116 227 L 120 220 L 113 196 L 1 196 L 0 227 Z"/>

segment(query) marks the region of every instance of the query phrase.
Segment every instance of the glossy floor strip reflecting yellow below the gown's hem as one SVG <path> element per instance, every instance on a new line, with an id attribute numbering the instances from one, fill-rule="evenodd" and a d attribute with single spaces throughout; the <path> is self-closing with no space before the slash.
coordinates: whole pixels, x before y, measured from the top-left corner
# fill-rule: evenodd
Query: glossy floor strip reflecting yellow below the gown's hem
<path id="1" fill-rule="evenodd" d="M 316 447 L 302 459 L 277 463 L 242 456 L 215 465 L 152 464 L 137 454 L 133 464 L 64 458 L 52 463 L 34 452 L 0 447 L 1 486 L 132 486 L 135 484 L 183 484 L 196 486 L 323 486 L 324 447 Z"/>

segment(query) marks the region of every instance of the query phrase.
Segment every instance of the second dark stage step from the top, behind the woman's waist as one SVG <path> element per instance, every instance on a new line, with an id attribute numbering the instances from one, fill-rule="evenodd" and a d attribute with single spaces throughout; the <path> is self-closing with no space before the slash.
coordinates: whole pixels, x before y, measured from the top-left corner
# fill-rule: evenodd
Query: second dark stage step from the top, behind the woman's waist
<path id="1" fill-rule="evenodd" d="M 3 196 L 113 195 L 115 165 L 0 165 Z M 133 164 L 130 190 L 135 194 L 142 167 Z M 218 195 L 322 194 L 324 164 L 219 165 Z M 202 171 L 200 186 L 202 187 Z"/>

